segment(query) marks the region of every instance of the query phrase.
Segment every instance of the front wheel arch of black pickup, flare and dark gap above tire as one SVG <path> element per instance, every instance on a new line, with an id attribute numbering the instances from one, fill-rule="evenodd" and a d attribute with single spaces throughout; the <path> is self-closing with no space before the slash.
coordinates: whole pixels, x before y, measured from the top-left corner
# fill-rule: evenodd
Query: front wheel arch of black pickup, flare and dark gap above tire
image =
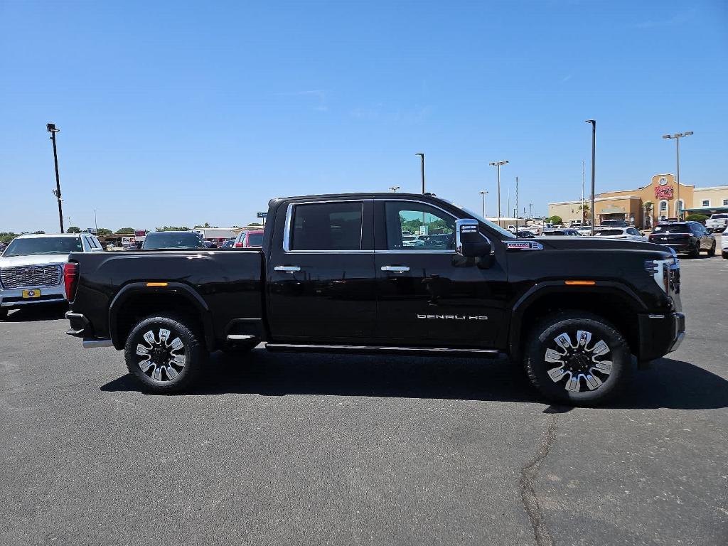
<path id="1" fill-rule="evenodd" d="M 508 350 L 513 360 L 521 360 L 526 334 L 542 317 L 566 310 L 586 311 L 609 320 L 625 336 L 630 351 L 638 354 L 638 314 L 646 306 L 633 290 L 618 282 L 570 286 L 559 280 L 534 285 L 513 306 L 508 334 Z"/>

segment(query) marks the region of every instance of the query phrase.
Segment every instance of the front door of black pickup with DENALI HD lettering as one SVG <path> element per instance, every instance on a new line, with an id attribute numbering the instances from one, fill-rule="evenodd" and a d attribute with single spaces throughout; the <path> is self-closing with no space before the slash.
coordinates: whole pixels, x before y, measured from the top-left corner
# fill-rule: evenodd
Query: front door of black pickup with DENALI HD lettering
<path id="1" fill-rule="evenodd" d="M 377 201 L 375 210 L 381 343 L 492 347 L 503 327 L 502 253 L 488 269 L 457 255 L 456 218 L 427 203 Z"/>

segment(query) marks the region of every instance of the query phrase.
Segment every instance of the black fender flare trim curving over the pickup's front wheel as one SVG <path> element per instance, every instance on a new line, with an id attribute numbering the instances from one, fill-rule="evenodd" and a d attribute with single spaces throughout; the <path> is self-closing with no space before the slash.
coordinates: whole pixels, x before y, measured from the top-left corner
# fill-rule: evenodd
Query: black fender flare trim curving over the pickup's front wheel
<path id="1" fill-rule="evenodd" d="M 598 280 L 596 284 L 589 286 L 567 286 L 566 280 L 549 280 L 545 282 L 537 282 L 526 290 L 523 295 L 513 305 L 511 313 L 510 328 L 508 331 L 508 352 L 513 360 L 521 359 L 521 325 L 523 317 L 528 312 L 531 305 L 536 303 L 539 298 L 553 293 L 588 293 L 588 294 L 605 294 L 618 293 L 620 298 L 626 298 L 633 302 L 642 310 L 646 310 L 644 302 L 638 298 L 637 294 L 628 286 L 621 282 Z"/>

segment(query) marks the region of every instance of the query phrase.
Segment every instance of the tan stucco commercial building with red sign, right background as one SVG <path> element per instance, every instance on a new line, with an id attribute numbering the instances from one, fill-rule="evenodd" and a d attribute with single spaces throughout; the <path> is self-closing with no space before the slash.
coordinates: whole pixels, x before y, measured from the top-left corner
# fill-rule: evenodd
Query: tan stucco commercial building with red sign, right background
<path id="1" fill-rule="evenodd" d="M 584 200 L 587 218 L 590 199 Z M 549 216 L 561 216 L 564 222 L 582 218 L 581 199 L 549 203 Z M 626 220 L 648 227 L 656 221 L 676 218 L 678 211 L 711 215 L 728 212 L 728 186 L 696 188 L 680 184 L 674 175 L 654 175 L 647 186 L 622 191 L 604 191 L 594 199 L 594 218 L 599 225 L 605 220 Z"/>

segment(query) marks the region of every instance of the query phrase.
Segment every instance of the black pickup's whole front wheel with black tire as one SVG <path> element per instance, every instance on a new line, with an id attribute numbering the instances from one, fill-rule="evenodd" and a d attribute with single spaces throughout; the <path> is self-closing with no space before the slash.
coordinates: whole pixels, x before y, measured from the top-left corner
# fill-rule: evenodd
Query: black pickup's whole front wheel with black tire
<path id="1" fill-rule="evenodd" d="M 580 340 L 579 331 L 590 335 Z M 561 334 L 566 334 L 570 349 L 559 344 Z M 551 351 L 566 358 L 555 360 Z M 547 357 L 552 360 L 547 361 Z M 571 405 L 596 405 L 617 394 L 631 363 L 629 346 L 617 328 L 596 314 L 582 311 L 545 317 L 531 329 L 524 353 L 526 373 L 534 387 L 550 401 Z M 572 383 L 574 374 L 576 384 Z"/>

